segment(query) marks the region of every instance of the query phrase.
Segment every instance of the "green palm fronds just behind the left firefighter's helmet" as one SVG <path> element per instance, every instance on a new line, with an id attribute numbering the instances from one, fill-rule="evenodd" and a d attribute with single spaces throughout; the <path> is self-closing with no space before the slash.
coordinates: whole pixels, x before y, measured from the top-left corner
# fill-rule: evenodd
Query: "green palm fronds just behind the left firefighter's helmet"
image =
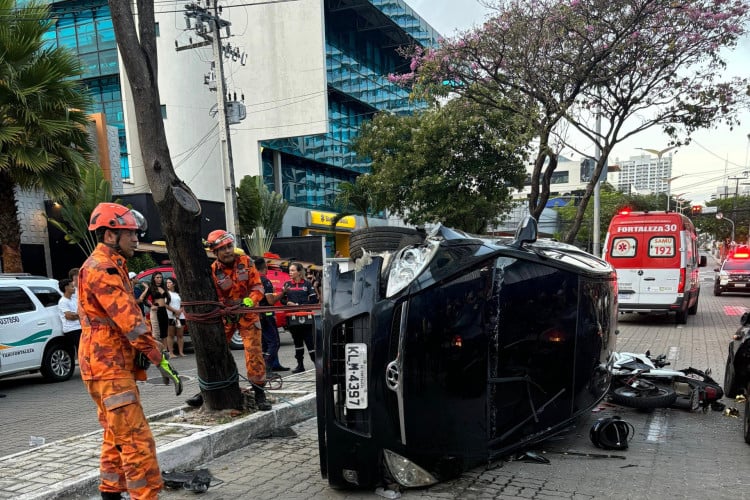
<path id="1" fill-rule="evenodd" d="M 80 189 L 77 196 L 59 202 L 60 219 L 48 217 L 47 220 L 65 234 L 65 241 L 78 245 L 85 255 L 89 255 L 96 247 L 96 239 L 88 229 L 91 212 L 99 203 L 112 200 L 112 189 L 98 165 L 83 169 Z"/>

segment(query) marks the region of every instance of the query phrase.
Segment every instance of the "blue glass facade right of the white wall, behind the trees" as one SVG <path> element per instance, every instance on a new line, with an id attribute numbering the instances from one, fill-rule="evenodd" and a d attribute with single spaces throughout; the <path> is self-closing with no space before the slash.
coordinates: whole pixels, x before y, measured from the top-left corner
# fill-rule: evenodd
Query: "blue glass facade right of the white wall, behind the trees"
<path id="1" fill-rule="evenodd" d="M 273 151 L 281 153 L 281 185 L 292 206 L 335 210 L 338 184 L 369 172 L 350 148 L 362 124 L 379 111 L 422 107 L 388 81 L 409 71 L 399 47 L 436 45 L 438 33 L 401 0 L 325 0 L 327 134 L 264 141 L 263 176 L 274 189 Z"/>

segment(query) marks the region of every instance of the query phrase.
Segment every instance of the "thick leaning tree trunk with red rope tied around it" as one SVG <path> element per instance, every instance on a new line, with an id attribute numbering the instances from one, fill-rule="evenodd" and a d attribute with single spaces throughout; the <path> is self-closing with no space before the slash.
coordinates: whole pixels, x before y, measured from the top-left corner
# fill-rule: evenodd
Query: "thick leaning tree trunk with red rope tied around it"
<path id="1" fill-rule="evenodd" d="M 169 258 L 179 277 L 186 306 L 191 314 L 215 309 L 209 302 L 217 296 L 200 231 L 200 204 L 190 188 L 174 172 L 161 116 L 156 59 L 153 0 L 138 0 L 136 28 L 130 0 L 109 0 L 112 23 L 123 65 L 133 92 L 138 138 L 149 188 L 169 249 Z M 205 404 L 214 410 L 242 408 L 243 397 L 236 377 L 237 365 L 229 351 L 221 318 L 210 323 L 188 319 L 195 347 L 198 376 L 217 387 L 204 390 Z"/>

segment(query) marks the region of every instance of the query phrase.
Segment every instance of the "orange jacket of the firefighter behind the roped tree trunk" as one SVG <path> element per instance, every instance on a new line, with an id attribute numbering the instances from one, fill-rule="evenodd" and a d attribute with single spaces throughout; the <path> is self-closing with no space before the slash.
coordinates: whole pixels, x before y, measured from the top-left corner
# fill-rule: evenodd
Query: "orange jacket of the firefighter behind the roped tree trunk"
<path id="1" fill-rule="evenodd" d="M 211 274 L 216 293 L 224 305 L 242 304 L 242 299 L 245 297 L 250 297 L 255 305 L 258 305 L 265 297 L 260 273 L 247 255 L 237 255 L 231 267 L 226 267 L 218 259 L 215 260 L 211 264 Z M 260 322 L 257 314 L 243 314 L 242 316 L 240 327 Z M 232 336 L 231 332 L 228 336 Z"/>

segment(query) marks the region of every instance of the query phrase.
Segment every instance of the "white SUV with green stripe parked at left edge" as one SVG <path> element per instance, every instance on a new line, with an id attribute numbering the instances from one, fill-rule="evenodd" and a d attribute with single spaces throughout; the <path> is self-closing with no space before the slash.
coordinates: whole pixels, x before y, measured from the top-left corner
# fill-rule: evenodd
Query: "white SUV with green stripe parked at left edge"
<path id="1" fill-rule="evenodd" d="M 75 346 L 63 334 L 57 280 L 0 274 L 0 377 L 41 372 L 62 382 L 75 371 Z"/>

